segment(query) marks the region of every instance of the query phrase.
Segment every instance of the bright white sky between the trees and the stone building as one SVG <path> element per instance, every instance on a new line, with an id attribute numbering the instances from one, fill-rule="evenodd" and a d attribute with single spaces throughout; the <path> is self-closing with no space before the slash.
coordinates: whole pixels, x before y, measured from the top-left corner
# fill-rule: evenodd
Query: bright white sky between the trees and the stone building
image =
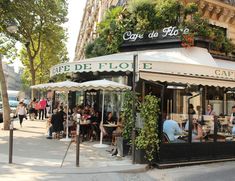
<path id="1" fill-rule="evenodd" d="M 68 3 L 68 22 L 64 24 L 64 27 L 68 29 L 68 41 L 66 46 L 68 50 L 69 61 L 73 61 L 86 0 L 68 0 Z M 20 48 L 20 46 L 20 44 L 17 45 L 18 48 Z M 18 71 L 19 66 L 22 66 L 19 60 L 16 60 L 13 65 L 16 71 Z"/>

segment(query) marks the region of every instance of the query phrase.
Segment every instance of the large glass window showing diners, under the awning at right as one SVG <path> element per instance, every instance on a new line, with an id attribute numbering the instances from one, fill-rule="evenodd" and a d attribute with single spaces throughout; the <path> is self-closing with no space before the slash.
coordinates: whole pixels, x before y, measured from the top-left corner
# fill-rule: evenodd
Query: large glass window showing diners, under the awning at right
<path id="1" fill-rule="evenodd" d="M 151 92 L 160 97 L 159 87 L 149 87 L 146 86 L 147 94 Z M 167 84 L 164 94 L 163 142 L 235 141 L 234 100 L 235 91 L 222 87 Z"/>

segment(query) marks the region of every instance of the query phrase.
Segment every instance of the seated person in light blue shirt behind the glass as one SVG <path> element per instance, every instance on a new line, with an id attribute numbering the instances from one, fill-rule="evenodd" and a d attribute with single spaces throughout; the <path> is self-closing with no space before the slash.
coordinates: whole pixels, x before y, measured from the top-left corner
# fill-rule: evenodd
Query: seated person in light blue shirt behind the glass
<path id="1" fill-rule="evenodd" d="M 171 142 L 182 142 L 182 140 L 179 140 L 176 137 L 183 133 L 183 130 L 179 127 L 179 124 L 176 121 L 165 120 L 163 123 L 163 132 L 167 134 Z"/>

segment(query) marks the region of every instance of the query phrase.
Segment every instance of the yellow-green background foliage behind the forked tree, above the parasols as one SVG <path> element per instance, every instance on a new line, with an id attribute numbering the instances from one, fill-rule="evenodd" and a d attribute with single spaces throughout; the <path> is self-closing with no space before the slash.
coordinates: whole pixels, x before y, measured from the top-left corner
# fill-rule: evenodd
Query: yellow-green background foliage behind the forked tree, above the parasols
<path id="1" fill-rule="evenodd" d="M 50 37 L 50 38 L 48 38 Z M 66 36 L 62 27 L 51 25 L 50 29 L 42 35 L 39 54 L 35 57 L 36 84 L 47 82 L 50 77 L 50 67 L 61 62 L 68 61 L 64 40 Z M 23 48 L 20 59 L 25 66 L 23 80 L 30 85 L 30 63 L 27 59 L 27 50 Z"/>

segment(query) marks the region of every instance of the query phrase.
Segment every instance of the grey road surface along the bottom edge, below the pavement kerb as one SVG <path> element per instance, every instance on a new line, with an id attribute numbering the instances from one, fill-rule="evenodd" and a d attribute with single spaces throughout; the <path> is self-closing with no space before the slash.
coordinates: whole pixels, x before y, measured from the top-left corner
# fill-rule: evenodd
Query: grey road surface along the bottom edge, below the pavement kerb
<path id="1" fill-rule="evenodd" d="M 22 165 L 0 164 L 0 178 L 4 181 L 233 181 L 235 180 L 235 162 L 223 162 L 171 169 L 153 169 L 141 173 L 60 172 L 26 167 Z"/>

